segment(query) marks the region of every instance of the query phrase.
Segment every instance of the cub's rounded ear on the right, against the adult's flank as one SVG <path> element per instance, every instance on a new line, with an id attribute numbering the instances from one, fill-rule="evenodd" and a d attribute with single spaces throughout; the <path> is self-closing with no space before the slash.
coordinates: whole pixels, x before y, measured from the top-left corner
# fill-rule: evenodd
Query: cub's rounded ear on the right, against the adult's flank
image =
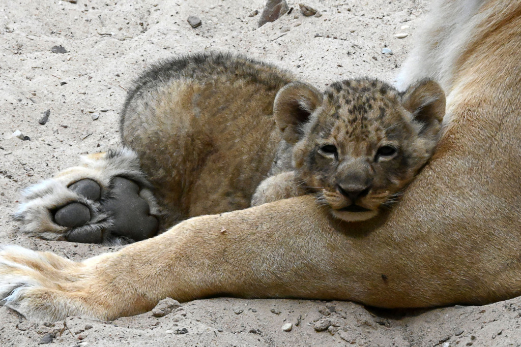
<path id="1" fill-rule="evenodd" d="M 403 94 L 402 105 L 423 125 L 420 136 L 438 138 L 445 115 L 445 93 L 438 83 L 423 80 L 413 84 Z"/>

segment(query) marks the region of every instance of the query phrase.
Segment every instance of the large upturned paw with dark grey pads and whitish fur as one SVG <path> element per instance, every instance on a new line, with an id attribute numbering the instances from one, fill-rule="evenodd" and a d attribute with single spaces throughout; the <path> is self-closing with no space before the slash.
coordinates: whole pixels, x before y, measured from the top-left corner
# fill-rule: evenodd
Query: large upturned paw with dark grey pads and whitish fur
<path id="1" fill-rule="evenodd" d="M 29 187 L 15 213 L 23 232 L 47 240 L 128 243 L 155 236 L 158 207 L 130 149 L 97 153 Z"/>

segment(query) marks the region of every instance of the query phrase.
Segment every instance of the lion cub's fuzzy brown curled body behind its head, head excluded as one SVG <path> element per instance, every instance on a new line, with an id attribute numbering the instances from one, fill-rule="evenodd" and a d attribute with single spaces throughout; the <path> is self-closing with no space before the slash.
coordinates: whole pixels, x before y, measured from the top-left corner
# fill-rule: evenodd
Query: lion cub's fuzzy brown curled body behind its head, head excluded
<path id="1" fill-rule="evenodd" d="M 122 142 L 138 152 L 167 226 L 250 206 L 281 138 L 273 100 L 293 80 L 229 54 L 165 61 L 137 80 Z"/>

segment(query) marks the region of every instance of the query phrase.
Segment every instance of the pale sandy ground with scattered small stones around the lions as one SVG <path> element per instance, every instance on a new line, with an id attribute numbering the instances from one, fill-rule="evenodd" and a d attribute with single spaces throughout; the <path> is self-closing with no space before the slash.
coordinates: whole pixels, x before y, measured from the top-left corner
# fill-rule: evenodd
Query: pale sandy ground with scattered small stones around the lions
<path id="1" fill-rule="evenodd" d="M 305 1 L 322 16 L 304 17 L 289 0 L 291 14 L 258 29 L 259 15 L 249 15 L 262 11 L 264 0 L 0 1 L 0 243 L 76 260 L 115 249 L 29 238 L 10 213 L 20 189 L 75 164 L 81 153 L 118 144 L 118 111 L 130 81 L 157 59 L 231 50 L 319 88 L 362 75 L 391 81 L 426 10 L 423 0 Z M 191 28 L 189 15 L 202 26 Z M 53 46 L 67 52 L 53 53 Z M 386 46 L 393 55 L 381 53 Z M 40 125 L 46 110 L 48 122 Z M 17 130 L 30 140 L 9 138 Z M 519 298 L 407 312 L 222 298 L 189 302 L 162 318 L 145 313 L 114 322 L 34 323 L 0 307 L 0 345 L 35 345 L 50 334 L 63 346 L 519 346 L 519 316 Z M 281 329 L 287 323 L 291 331 Z"/>

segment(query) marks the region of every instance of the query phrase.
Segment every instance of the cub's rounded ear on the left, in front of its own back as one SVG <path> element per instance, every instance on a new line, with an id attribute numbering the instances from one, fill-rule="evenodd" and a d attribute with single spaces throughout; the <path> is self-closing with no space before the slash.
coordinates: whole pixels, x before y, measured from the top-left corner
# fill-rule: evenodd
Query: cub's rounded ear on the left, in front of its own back
<path id="1" fill-rule="evenodd" d="M 322 103 L 322 93 L 314 86 L 292 82 L 283 86 L 275 97 L 273 115 L 282 137 L 290 144 L 302 137 L 302 125 Z"/>

